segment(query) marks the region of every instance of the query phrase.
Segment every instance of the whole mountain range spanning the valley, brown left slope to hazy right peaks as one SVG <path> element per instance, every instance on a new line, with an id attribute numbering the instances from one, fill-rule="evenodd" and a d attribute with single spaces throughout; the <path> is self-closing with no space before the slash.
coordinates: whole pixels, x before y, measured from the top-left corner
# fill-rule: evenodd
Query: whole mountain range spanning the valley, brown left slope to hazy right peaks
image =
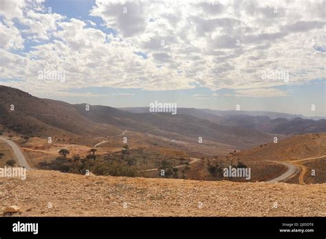
<path id="1" fill-rule="evenodd" d="M 154 135 L 164 141 L 188 141 L 195 147 L 202 137 L 206 146 L 230 150 L 265 144 L 275 135 L 326 132 L 325 120 L 307 120 L 283 113 L 268 112 L 272 118 L 257 114 L 263 113 L 186 108 L 177 109 L 177 115 L 149 113 L 144 107 L 122 110 L 68 104 L 0 86 L 0 127 L 3 130 L 20 135 L 74 139 L 77 144 L 94 144 L 94 140 L 91 141 L 94 137 L 119 135 L 128 130 L 142 133 L 147 141 L 157 140 L 150 137 Z"/>

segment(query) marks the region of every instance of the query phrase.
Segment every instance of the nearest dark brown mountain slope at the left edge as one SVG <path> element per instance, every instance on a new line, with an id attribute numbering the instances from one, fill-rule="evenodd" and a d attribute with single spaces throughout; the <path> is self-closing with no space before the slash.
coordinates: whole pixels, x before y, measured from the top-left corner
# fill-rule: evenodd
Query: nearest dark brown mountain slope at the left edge
<path id="1" fill-rule="evenodd" d="M 10 87 L 0 86 L 0 113 L 0 124 L 21 135 L 76 138 L 103 130 L 120 133 L 114 126 L 87 120 L 72 104 L 36 98 Z"/>

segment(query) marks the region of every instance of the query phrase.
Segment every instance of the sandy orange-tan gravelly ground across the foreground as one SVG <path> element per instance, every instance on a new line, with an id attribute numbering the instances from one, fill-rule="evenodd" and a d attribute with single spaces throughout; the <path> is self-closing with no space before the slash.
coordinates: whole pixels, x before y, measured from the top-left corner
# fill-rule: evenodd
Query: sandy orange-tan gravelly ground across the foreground
<path id="1" fill-rule="evenodd" d="M 8 207 L 13 205 L 19 213 L 8 213 Z M 326 216 L 326 183 L 232 183 L 83 176 L 32 170 L 28 171 L 25 181 L 0 178 L 0 214 Z"/>

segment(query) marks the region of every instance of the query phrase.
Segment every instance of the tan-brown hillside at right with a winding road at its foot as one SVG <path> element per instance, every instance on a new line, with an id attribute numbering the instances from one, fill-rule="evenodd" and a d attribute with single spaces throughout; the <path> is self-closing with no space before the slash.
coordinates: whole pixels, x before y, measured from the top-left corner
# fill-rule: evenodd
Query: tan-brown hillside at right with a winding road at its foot
<path id="1" fill-rule="evenodd" d="M 240 160 L 252 168 L 253 179 L 265 178 L 266 172 L 282 163 L 290 163 L 297 168 L 288 183 L 326 182 L 326 133 L 294 135 L 281 139 L 277 144 L 269 143 L 229 155 L 227 161 Z M 284 166 L 283 166 L 284 167 Z M 312 176 L 312 170 L 315 175 Z M 283 171 L 284 172 L 284 171 Z M 282 171 L 274 171 L 274 176 Z"/>

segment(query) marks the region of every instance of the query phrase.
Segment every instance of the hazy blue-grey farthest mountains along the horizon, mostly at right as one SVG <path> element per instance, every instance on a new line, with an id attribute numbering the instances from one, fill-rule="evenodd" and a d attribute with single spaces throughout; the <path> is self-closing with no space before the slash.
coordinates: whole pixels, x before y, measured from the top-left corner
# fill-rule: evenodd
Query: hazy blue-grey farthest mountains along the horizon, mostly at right
<path id="1" fill-rule="evenodd" d="M 122 108 L 132 113 L 145 113 L 147 107 Z M 224 126 L 241 126 L 281 135 L 326 132 L 326 120 L 269 111 L 214 111 L 210 109 L 177 109 L 178 114 L 192 115 Z"/>

